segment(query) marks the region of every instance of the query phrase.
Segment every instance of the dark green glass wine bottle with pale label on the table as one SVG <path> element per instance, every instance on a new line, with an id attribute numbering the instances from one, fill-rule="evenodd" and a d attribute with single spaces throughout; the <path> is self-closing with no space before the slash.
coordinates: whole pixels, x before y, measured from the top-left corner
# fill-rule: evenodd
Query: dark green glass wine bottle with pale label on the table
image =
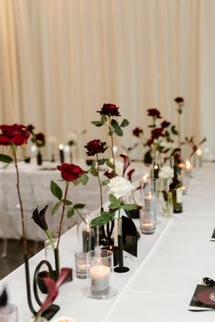
<path id="1" fill-rule="evenodd" d="M 182 213 L 182 183 L 179 181 L 178 177 L 178 166 L 174 165 L 174 176 L 172 182 L 169 185 L 169 191 L 172 194 L 172 203 L 173 203 L 173 213 Z"/>

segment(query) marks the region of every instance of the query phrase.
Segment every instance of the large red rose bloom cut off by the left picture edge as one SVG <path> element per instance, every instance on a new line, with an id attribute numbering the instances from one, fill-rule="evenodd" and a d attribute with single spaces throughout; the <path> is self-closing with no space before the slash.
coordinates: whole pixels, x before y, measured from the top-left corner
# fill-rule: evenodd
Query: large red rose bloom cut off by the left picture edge
<path id="1" fill-rule="evenodd" d="M 14 124 L 13 126 L 0 126 L 2 134 L 0 134 L 0 145 L 10 146 L 22 146 L 27 143 L 30 136 L 26 126 Z"/>

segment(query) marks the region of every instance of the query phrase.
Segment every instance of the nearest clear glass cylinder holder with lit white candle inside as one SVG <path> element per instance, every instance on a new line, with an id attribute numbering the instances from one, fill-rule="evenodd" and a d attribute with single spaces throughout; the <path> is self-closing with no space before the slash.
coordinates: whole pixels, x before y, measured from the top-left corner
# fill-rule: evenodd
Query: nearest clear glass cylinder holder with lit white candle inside
<path id="1" fill-rule="evenodd" d="M 109 298 L 116 295 L 113 287 L 113 253 L 96 249 L 87 253 L 88 287 L 85 295 L 92 298 Z"/>

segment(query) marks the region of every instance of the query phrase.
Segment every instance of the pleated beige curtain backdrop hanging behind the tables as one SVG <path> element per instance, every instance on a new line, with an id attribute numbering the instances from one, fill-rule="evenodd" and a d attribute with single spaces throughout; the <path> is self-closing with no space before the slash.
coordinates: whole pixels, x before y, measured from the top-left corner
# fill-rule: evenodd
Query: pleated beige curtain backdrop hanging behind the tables
<path id="1" fill-rule="evenodd" d="M 103 103 L 148 132 L 147 109 L 215 146 L 214 0 L 0 0 L 0 124 L 32 123 L 67 142 L 105 137 Z M 103 133 L 102 133 L 103 132 Z"/>

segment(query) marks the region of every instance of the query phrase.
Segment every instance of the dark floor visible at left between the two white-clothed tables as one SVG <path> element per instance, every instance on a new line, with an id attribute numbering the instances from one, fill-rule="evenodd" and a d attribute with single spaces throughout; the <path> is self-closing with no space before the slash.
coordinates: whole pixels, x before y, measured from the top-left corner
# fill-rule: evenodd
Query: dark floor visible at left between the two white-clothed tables
<path id="1" fill-rule="evenodd" d="M 27 247 L 30 256 L 34 256 L 44 247 L 44 243 L 28 241 Z M 0 279 L 15 270 L 23 263 L 23 247 L 21 240 L 8 239 L 7 254 L 2 257 L 4 250 L 4 241 L 0 239 Z"/>

